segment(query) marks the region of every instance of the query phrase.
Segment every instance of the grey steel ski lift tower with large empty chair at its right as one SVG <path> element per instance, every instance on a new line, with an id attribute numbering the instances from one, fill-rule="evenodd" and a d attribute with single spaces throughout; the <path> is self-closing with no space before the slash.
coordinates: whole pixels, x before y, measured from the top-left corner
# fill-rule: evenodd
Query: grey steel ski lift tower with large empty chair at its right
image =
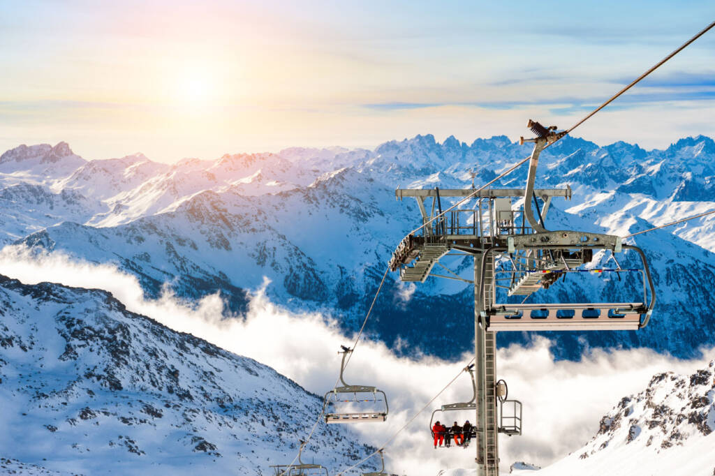
<path id="1" fill-rule="evenodd" d="M 514 415 L 511 416 L 504 415 L 503 405 L 501 412 L 497 406 L 504 398 L 506 386 L 496 379 L 496 332 L 640 329 L 648 323 L 655 304 L 653 282 L 641 249 L 623 244 L 621 238 L 614 235 L 546 229 L 544 219 L 551 200 L 554 197 L 571 199 L 571 188 L 535 189 L 538 157 L 544 147 L 561 139 L 565 133 L 532 121 L 528 127 L 536 138 L 521 139 L 521 144 L 534 144 L 524 189 L 395 191 L 397 199 L 413 197 L 417 200 L 424 227 L 400 242 L 390 259 L 390 269 L 399 269 L 400 279 L 405 282 L 425 282 L 432 276 L 474 285 L 475 460 L 478 476 L 499 474 L 499 432 L 521 434 L 521 404 L 518 409 L 514 405 Z M 442 212 L 442 199 L 465 197 L 469 197 L 463 204 L 465 208 Z M 520 199 L 523 199 L 521 204 Z M 640 267 L 621 268 L 616 254 L 626 249 L 636 253 Z M 618 279 L 617 283 L 623 287 L 633 287 L 637 282 L 635 298 L 631 302 L 525 304 L 531 294 L 548 288 L 566 273 L 585 271 L 582 265 L 590 263 L 596 252 L 612 254 L 616 263 L 616 268 L 601 269 L 601 272 L 641 276 L 642 279 Z M 441 258 L 453 254 L 473 256 L 473 282 L 440 262 Z M 433 272 L 435 264 L 440 267 L 440 273 L 447 274 Z M 497 302 L 497 288 L 503 289 L 499 294 L 505 302 Z M 505 424 L 507 421 L 511 424 Z"/>

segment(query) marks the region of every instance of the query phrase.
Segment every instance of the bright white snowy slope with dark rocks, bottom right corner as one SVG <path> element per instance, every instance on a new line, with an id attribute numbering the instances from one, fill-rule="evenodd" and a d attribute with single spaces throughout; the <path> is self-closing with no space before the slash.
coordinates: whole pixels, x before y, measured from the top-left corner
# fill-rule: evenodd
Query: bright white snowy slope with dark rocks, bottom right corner
<path id="1" fill-rule="evenodd" d="M 715 474 L 715 361 L 692 375 L 664 372 L 623 397 L 593 440 L 533 476 Z"/>

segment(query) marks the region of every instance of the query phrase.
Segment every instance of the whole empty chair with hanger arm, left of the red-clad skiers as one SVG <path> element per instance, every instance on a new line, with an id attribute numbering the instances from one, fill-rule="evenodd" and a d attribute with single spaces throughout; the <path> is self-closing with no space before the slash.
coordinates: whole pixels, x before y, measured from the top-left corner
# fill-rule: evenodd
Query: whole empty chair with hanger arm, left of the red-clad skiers
<path id="1" fill-rule="evenodd" d="M 345 407 L 348 410 L 355 410 L 355 407 L 363 407 L 367 404 L 377 405 L 383 402 L 384 409 L 359 411 L 359 412 L 325 412 L 326 423 L 363 423 L 363 422 L 384 422 L 388 417 L 388 397 L 385 392 L 378 390 L 375 387 L 366 385 L 347 385 L 342 378 L 342 372 L 345 371 L 345 358 L 352 352 L 352 349 L 341 345 L 342 349 L 338 354 L 342 354 L 342 362 L 340 363 L 340 383 L 342 386 L 335 387 L 330 392 L 325 394 L 323 406 L 325 409 L 330 407 Z M 382 406 L 382 405 L 380 405 Z"/>

